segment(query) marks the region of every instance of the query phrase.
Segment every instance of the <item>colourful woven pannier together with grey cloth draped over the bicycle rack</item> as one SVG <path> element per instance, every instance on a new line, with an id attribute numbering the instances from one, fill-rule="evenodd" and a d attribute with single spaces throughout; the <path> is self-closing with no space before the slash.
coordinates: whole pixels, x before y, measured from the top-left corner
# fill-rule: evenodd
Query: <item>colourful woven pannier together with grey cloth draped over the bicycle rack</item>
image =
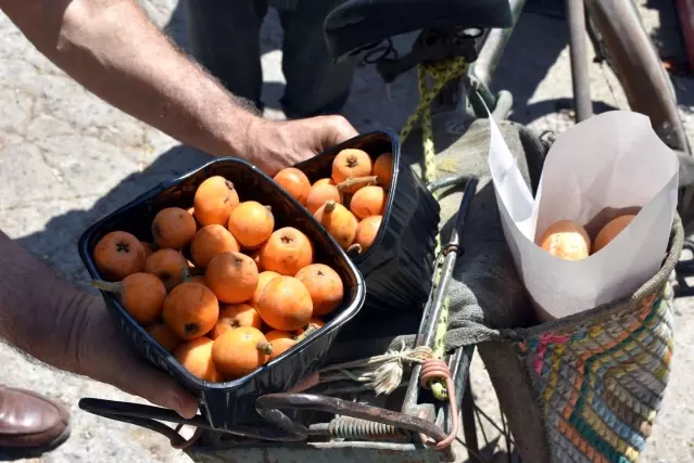
<path id="1" fill-rule="evenodd" d="M 539 141 L 513 123 L 503 121 L 499 127 L 534 190 L 543 154 Z M 489 124 L 478 120 L 463 137 L 446 139 L 443 132 L 434 138 L 447 146 L 437 156 L 437 163 L 446 168 L 442 176 L 468 173 L 480 178 L 462 237 L 465 253 L 456 262 L 449 288 L 446 351 L 477 345 L 523 461 L 635 461 L 668 377 L 673 298 L 668 280 L 682 250 L 679 217 L 660 271 L 631 297 L 535 324 L 504 237 L 491 184 Z M 416 136 L 411 143 L 420 146 Z M 403 153 L 407 154 L 406 146 Z M 459 204 L 459 192 L 441 201 L 444 239 L 455 223 Z M 416 330 L 416 323 L 414 327 L 405 322 L 400 326 L 391 319 L 370 321 L 369 325 L 379 332 L 384 326 L 393 326 L 390 331 L 395 333 Z M 366 346 L 374 346 L 371 350 L 378 352 L 383 351 L 382 346 L 411 348 L 415 337 L 364 336 L 368 342 L 344 343 L 341 350 L 352 352 Z M 375 353 L 359 352 L 368 355 Z"/>

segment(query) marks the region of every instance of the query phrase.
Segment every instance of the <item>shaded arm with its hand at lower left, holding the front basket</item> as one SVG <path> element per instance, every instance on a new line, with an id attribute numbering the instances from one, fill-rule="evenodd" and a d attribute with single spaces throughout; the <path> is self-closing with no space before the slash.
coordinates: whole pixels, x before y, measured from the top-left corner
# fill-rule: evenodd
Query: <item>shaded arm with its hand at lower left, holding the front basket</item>
<path id="1" fill-rule="evenodd" d="M 194 397 L 127 345 L 100 298 L 78 290 L 0 231 L 2 340 L 45 363 L 111 384 L 185 417 L 198 410 Z"/>

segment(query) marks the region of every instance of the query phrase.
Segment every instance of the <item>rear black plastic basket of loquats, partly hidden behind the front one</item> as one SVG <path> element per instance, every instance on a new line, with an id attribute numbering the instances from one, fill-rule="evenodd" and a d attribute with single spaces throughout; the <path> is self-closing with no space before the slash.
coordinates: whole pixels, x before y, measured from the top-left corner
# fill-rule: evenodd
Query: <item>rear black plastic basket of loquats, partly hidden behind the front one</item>
<path id="1" fill-rule="evenodd" d="M 409 166 L 401 163 L 400 141 L 388 130 L 357 136 L 295 167 L 312 183 L 328 178 L 332 159 L 348 147 L 364 150 L 373 159 L 386 152 L 393 155 L 381 228 L 366 253 L 351 256 L 366 282 L 365 312 L 420 311 L 431 290 L 439 203 Z"/>

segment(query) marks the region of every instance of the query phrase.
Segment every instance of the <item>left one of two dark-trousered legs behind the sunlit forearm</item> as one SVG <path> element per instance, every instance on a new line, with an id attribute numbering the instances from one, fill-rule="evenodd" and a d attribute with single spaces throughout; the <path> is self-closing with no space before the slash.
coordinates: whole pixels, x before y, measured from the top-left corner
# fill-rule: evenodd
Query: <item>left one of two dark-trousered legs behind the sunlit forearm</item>
<path id="1" fill-rule="evenodd" d="M 190 49 L 198 62 L 237 97 L 262 108 L 260 29 L 265 0 L 186 2 Z"/>

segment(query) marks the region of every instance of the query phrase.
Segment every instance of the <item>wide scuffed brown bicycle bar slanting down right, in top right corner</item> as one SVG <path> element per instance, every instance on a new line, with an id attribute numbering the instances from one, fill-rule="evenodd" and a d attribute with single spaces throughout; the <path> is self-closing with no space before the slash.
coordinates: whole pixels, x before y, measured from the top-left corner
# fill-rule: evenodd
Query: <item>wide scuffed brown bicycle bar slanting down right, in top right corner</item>
<path id="1" fill-rule="evenodd" d="M 691 155 L 672 82 L 636 5 L 632 0 L 585 0 L 585 11 L 591 40 L 615 72 L 629 107 L 648 116 L 665 144 Z M 679 209 L 685 222 L 693 197 L 692 187 L 681 190 Z"/>

